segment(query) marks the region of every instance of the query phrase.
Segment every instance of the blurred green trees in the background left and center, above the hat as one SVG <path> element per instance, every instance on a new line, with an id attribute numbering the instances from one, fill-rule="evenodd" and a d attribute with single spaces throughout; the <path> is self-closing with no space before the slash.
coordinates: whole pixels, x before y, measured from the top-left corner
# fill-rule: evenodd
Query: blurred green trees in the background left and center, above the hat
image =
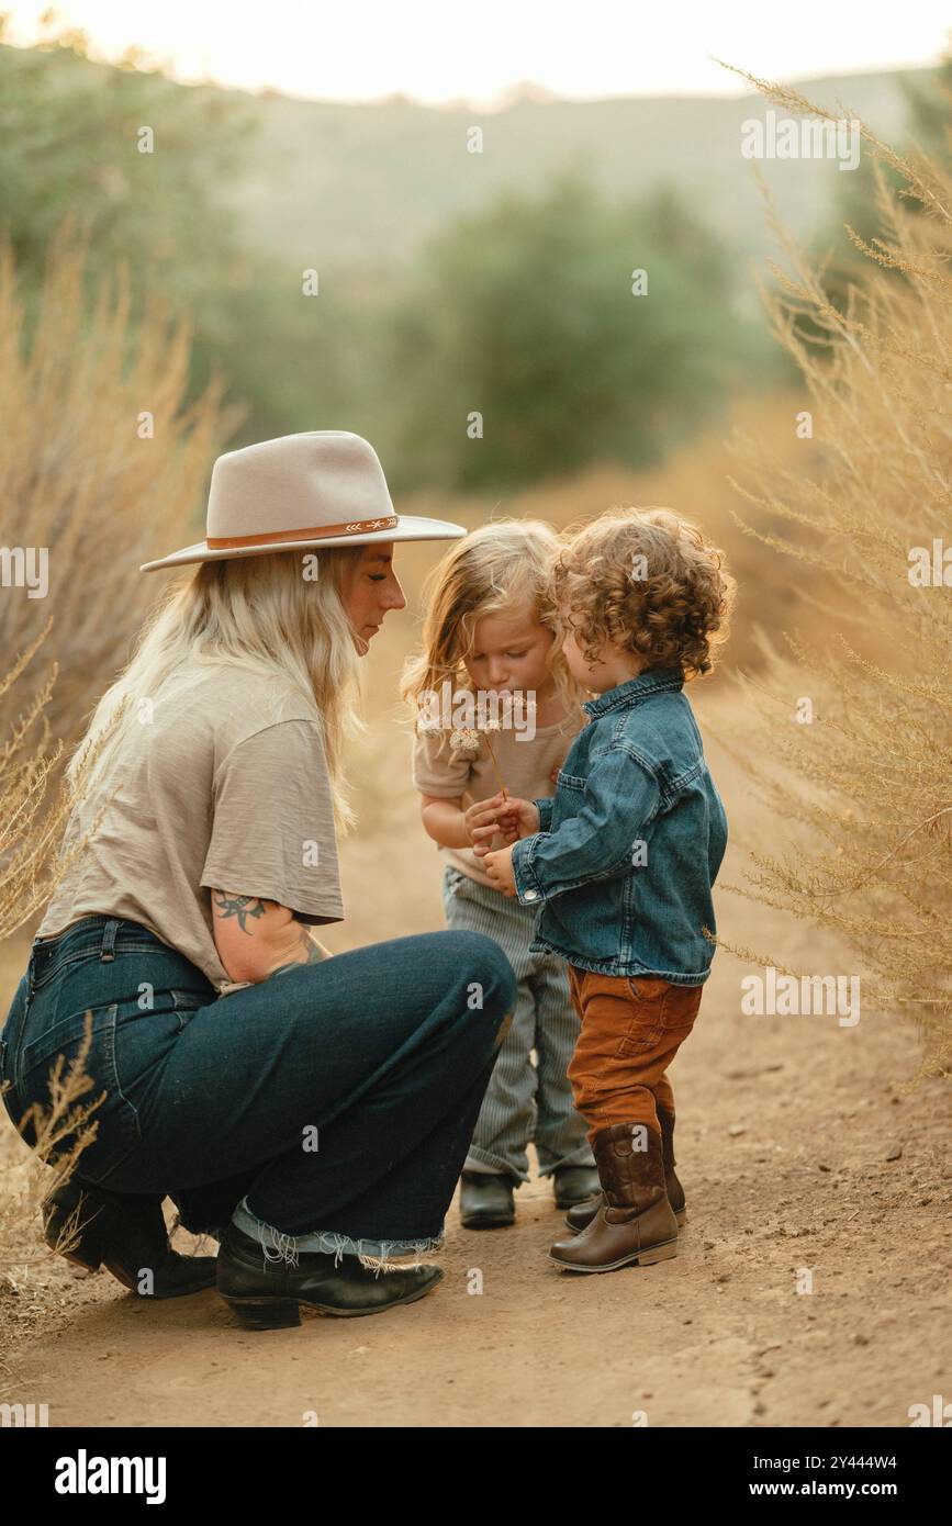
<path id="1" fill-rule="evenodd" d="M 95 63 L 82 32 L 50 21 L 37 47 L 0 46 L 0 101 L 27 336 L 50 235 L 79 208 L 88 279 L 125 262 L 133 313 L 156 288 L 192 325 L 189 398 L 218 372 L 247 406 L 232 446 L 346 427 L 397 488 L 519 485 L 658 461 L 734 391 L 790 374 L 745 305 L 749 273 L 668 186 L 618 206 L 566 172 L 455 220 L 406 266 L 328 258 L 305 296 L 304 272 L 250 250 L 220 195 L 247 172 L 240 93 L 178 85 L 134 50 Z M 154 153 L 137 148 L 143 127 Z"/>

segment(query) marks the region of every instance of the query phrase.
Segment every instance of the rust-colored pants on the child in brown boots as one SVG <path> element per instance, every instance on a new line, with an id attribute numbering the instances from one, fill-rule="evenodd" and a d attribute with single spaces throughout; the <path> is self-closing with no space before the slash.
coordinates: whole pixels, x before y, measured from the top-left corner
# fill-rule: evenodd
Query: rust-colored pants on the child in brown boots
<path id="1" fill-rule="evenodd" d="M 674 1112 L 665 1071 L 694 1027 L 703 986 L 595 975 L 569 964 L 569 987 L 581 1033 L 568 1076 L 589 1143 L 610 1123 L 659 1131 L 656 1103 Z"/>

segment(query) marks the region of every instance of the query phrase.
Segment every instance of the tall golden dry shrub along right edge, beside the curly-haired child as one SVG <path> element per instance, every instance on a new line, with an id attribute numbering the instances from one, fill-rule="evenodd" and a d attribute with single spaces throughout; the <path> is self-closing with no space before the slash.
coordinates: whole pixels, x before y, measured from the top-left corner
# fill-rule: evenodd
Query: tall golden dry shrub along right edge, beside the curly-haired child
<path id="1" fill-rule="evenodd" d="M 790 113 L 833 116 L 745 78 Z M 920 1025 L 915 1085 L 949 1074 L 952 1053 L 952 180 L 865 125 L 862 143 L 880 218 L 871 244 L 847 229 L 867 256 L 864 278 L 836 307 L 780 230 L 787 269 L 774 267 L 767 298 L 802 374 L 821 470 L 781 470 L 748 446 L 735 484 L 795 526 L 784 539 L 735 516 L 790 557 L 804 597 L 827 575 L 839 594 L 813 601 L 806 632 L 772 644 L 763 682 L 740 676 L 734 742 L 722 740 L 752 760 L 778 839 L 787 821 L 799 824 L 783 856 L 775 844 L 754 852 L 746 885 L 732 888 L 845 940 L 862 1007 Z M 899 194 L 883 163 L 900 175 Z M 915 548 L 932 562 L 946 546 L 941 581 L 917 586 Z"/>

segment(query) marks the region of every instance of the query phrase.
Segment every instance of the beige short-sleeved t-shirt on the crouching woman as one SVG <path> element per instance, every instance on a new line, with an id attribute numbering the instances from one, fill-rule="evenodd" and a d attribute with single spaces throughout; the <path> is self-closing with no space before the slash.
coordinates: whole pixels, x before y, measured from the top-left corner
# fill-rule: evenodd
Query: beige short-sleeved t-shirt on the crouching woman
<path id="1" fill-rule="evenodd" d="M 146 707 L 140 707 L 145 710 Z M 37 937 L 92 913 L 128 917 L 177 949 L 221 995 L 211 888 L 340 922 L 343 900 L 319 713 L 282 674 L 185 662 L 124 743 L 119 789 L 50 900 Z M 73 809 L 69 845 L 102 792 Z"/>

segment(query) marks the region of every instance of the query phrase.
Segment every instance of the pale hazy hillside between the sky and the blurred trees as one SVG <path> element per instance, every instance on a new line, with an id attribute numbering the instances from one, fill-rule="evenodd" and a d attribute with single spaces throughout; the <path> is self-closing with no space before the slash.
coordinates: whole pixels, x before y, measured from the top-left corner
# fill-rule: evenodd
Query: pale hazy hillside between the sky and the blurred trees
<path id="1" fill-rule="evenodd" d="M 810 79 L 801 89 L 819 105 L 841 101 L 897 142 L 908 118 L 902 81 L 926 85 L 932 73 Z M 246 102 L 259 134 L 229 198 L 249 238 L 293 266 L 339 253 L 378 258 L 381 249 L 406 256 L 447 217 L 476 211 L 503 186 L 531 189 L 566 163 L 618 198 L 670 182 L 738 252 L 760 258 L 769 247 L 754 171 L 740 154 L 741 122 L 766 110 L 754 95 L 528 98 L 496 114 L 401 99 L 345 105 L 262 95 Z M 471 125 L 484 130 L 482 154 L 465 150 Z M 763 168 L 781 217 L 809 235 L 842 172 L 809 160 Z"/>

